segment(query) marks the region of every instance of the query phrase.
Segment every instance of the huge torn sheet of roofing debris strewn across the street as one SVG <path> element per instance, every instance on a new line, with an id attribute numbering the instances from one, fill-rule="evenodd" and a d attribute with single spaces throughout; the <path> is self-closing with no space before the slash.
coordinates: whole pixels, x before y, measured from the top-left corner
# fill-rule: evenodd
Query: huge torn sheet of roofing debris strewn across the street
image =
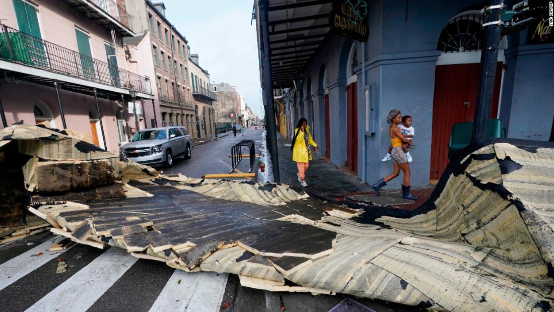
<path id="1" fill-rule="evenodd" d="M 166 176 L 40 126 L 13 125 L 0 138 L 0 234 L 34 214 L 47 224 L 18 235 L 50 228 L 190 274 L 237 274 L 245 287 L 442 311 L 554 307 L 554 148 L 546 145 L 478 146 L 407 212 L 280 183 Z"/>

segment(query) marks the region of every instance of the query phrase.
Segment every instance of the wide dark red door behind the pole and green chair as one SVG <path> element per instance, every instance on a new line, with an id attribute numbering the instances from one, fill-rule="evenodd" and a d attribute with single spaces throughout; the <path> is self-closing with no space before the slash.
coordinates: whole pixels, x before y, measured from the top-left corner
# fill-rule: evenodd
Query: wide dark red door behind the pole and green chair
<path id="1" fill-rule="evenodd" d="M 435 70 L 430 178 L 438 179 L 448 165 L 450 130 L 458 122 L 473 120 L 480 64 L 439 65 Z M 496 118 L 502 80 L 502 63 L 496 67 L 493 106 Z M 416 130 L 417 132 L 417 130 Z M 417 137 L 414 139 L 416 140 Z M 415 141 L 417 144 L 417 141 Z"/>

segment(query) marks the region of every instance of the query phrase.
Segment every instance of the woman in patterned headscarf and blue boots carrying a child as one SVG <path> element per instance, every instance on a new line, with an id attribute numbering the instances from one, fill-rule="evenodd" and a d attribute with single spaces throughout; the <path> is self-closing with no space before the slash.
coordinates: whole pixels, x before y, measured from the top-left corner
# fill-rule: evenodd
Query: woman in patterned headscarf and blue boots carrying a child
<path id="1" fill-rule="evenodd" d="M 402 114 L 399 110 L 393 109 L 388 113 L 387 123 L 390 124 L 388 127 L 388 134 L 391 137 L 391 158 L 393 160 L 393 172 L 379 180 L 377 183 L 371 187 L 375 190 L 375 195 L 379 196 L 379 188 L 387 185 L 388 181 L 391 181 L 393 178 L 396 178 L 400 171 L 404 173 L 404 183 L 402 185 L 402 198 L 407 200 L 417 200 L 416 196 L 410 194 L 410 164 L 408 163 L 408 158 L 406 153 L 402 150 L 402 143 L 411 144 L 411 141 L 408 140 L 398 129 L 398 125 L 402 123 Z"/>

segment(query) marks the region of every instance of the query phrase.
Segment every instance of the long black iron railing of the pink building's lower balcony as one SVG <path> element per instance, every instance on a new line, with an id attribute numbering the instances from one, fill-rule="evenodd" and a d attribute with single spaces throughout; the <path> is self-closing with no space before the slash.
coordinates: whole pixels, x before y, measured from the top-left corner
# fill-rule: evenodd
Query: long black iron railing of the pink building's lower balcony
<path id="1" fill-rule="evenodd" d="M 0 59 L 117 88 L 152 94 L 150 80 L 0 24 Z"/>

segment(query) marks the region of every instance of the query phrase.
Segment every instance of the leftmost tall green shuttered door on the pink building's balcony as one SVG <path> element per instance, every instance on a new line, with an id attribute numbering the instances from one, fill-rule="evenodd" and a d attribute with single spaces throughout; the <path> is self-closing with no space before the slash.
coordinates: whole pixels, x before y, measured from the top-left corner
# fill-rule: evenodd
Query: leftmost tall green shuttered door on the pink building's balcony
<path id="1" fill-rule="evenodd" d="M 14 58 L 31 65 L 48 67 L 46 49 L 40 34 L 37 8 L 22 0 L 13 0 L 13 7 L 19 31 L 25 33 L 14 34 L 11 39 L 15 50 Z"/>

